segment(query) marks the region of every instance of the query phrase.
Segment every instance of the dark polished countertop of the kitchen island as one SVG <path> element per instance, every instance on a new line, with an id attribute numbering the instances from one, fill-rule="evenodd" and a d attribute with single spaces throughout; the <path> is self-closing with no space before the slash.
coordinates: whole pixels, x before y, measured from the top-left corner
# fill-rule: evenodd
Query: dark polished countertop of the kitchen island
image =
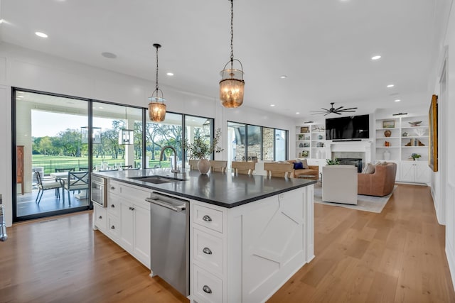
<path id="1" fill-rule="evenodd" d="M 262 175 L 234 176 L 232 172 L 212 172 L 208 175 L 201 175 L 198 170 L 186 170 L 175 174 L 170 169 L 165 168 L 92 172 L 92 175 L 107 177 L 112 180 L 226 208 L 247 204 L 316 183 L 315 180 L 267 178 Z M 154 184 L 129 179 L 131 177 L 154 175 L 175 177 L 186 181 Z"/>

